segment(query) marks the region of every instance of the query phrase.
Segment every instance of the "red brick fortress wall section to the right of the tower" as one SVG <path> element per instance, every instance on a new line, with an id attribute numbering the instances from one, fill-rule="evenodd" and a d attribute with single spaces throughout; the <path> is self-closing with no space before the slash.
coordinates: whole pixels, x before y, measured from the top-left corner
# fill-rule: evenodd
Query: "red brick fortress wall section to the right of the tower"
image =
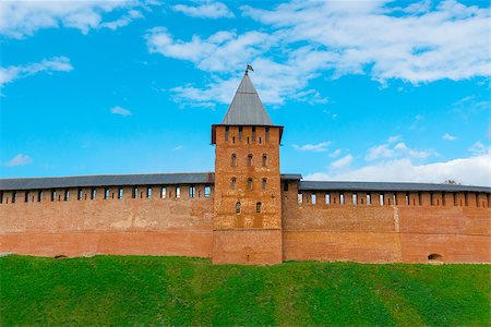
<path id="1" fill-rule="evenodd" d="M 283 192 L 285 261 L 489 263 L 489 195 L 475 193 Z M 340 194 L 344 205 L 339 204 Z M 361 203 L 363 199 L 363 203 Z M 396 203 L 397 205 L 394 205 Z M 463 204 L 460 206 L 460 203 Z M 467 204 L 467 206 L 466 206 Z"/>

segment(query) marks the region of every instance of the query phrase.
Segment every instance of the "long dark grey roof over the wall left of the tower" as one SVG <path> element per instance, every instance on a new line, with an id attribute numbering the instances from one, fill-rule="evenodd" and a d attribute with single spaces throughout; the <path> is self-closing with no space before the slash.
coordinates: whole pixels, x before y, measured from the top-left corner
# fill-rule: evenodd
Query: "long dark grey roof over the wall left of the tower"
<path id="1" fill-rule="evenodd" d="M 39 190 L 84 186 L 212 184 L 213 172 L 76 175 L 58 178 L 0 179 L 0 190 Z"/>

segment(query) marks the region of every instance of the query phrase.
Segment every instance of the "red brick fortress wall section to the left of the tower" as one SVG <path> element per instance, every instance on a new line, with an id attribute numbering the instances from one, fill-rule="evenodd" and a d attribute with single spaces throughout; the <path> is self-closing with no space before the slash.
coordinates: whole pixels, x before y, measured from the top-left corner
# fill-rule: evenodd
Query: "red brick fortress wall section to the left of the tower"
<path id="1" fill-rule="evenodd" d="M 51 190 L 44 190 L 37 202 L 37 191 L 17 192 L 12 204 L 12 192 L 4 192 L 0 205 L 0 252 L 14 252 L 44 256 L 79 256 L 87 254 L 183 255 L 209 257 L 213 249 L 213 193 L 204 197 L 204 185 L 195 185 L 195 197 L 190 198 L 189 185 L 166 186 L 166 198 L 160 197 L 161 186 L 139 186 L 133 198 L 133 187 L 109 190 L 57 190 L 51 201 Z M 213 189 L 212 189 L 213 190 Z M 34 196 L 31 197 L 31 194 Z M 87 199 L 85 199 L 87 198 Z"/>

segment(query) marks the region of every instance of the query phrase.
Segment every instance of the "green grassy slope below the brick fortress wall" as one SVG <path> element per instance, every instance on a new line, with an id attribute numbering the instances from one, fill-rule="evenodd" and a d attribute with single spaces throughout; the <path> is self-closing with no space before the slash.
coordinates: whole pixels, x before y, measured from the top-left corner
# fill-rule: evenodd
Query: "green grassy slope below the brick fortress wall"
<path id="1" fill-rule="evenodd" d="M 490 265 L 0 258 L 11 325 L 489 326 Z"/>

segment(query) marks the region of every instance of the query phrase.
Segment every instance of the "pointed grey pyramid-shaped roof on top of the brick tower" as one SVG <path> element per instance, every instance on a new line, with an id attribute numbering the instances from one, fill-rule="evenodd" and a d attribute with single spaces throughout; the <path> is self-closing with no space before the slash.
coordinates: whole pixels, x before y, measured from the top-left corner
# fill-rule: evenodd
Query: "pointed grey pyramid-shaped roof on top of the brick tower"
<path id="1" fill-rule="evenodd" d="M 265 125 L 272 126 L 270 116 L 264 109 L 258 92 L 252 85 L 249 75 L 243 75 L 233 100 L 228 108 L 223 125 Z"/>

